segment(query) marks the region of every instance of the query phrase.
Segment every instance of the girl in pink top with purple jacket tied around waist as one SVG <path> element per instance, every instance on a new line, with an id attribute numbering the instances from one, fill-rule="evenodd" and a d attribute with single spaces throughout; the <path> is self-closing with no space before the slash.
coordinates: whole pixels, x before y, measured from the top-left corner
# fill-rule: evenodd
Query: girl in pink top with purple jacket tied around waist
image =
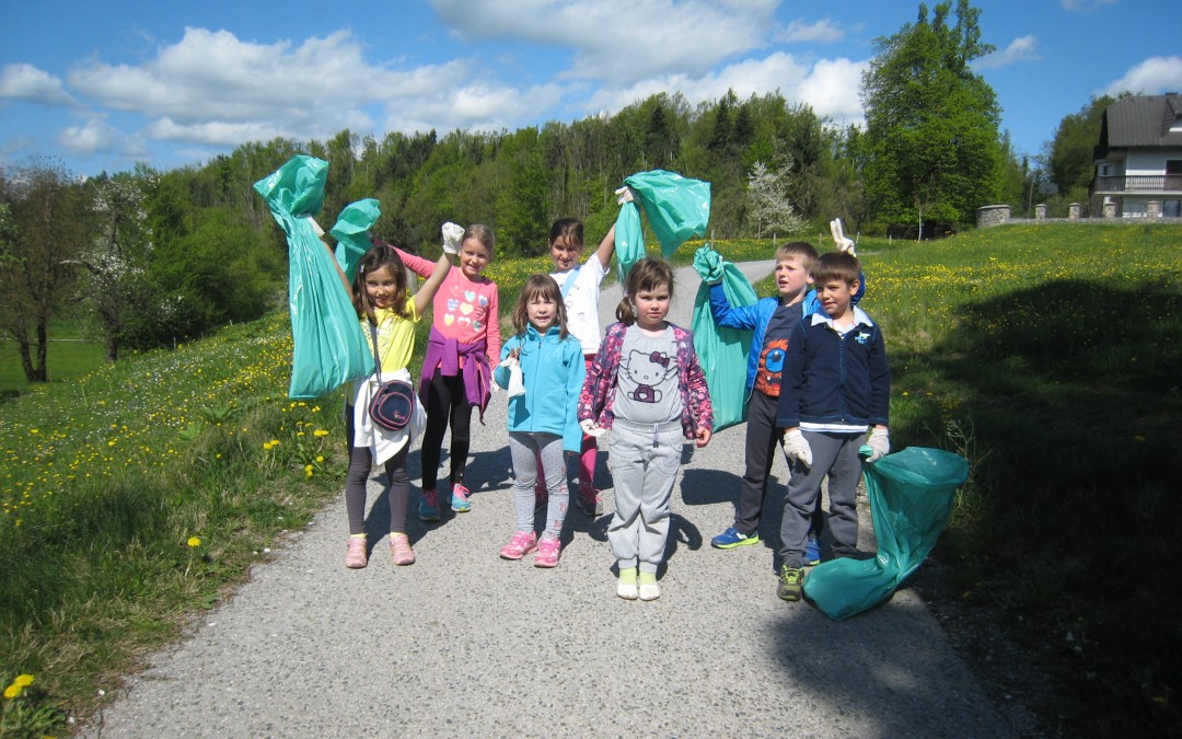
<path id="1" fill-rule="evenodd" d="M 444 227 L 444 233 L 447 227 Z M 488 357 L 501 351 L 500 302 L 496 284 L 480 273 L 493 258 L 493 231 L 482 223 L 463 229 L 459 238 L 459 267 L 453 268 L 435 294 L 435 317 L 427 341 L 418 397 L 427 409 L 427 430 L 420 450 L 423 492 L 418 518 L 440 519 L 435 492 L 443 433 L 452 426 L 452 510 L 472 510 L 463 472 L 468 464 L 468 426 L 472 407 L 483 421 L 488 404 L 492 367 Z"/>

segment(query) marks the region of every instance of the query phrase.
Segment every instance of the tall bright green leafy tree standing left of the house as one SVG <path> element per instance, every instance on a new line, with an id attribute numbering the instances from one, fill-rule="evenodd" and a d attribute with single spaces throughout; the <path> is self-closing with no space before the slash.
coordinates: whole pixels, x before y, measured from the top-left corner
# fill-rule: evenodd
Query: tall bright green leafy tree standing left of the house
<path id="1" fill-rule="evenodd" d="M 993 89 L 969 64 L 993 51 L 980 40 L 981 11 L 956 2 L 920 5 L 918 20 L 876 41 L 862 78 L 866 111 L 866 184 L 871 207 L 889 222 L 967 222 L 996 197 L 1001 111 Z"/>

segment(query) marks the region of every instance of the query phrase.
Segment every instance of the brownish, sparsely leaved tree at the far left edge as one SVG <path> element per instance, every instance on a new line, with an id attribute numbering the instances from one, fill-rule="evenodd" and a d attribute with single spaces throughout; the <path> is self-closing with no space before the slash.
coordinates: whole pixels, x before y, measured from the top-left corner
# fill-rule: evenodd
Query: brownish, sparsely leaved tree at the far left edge
<path id="1" fill-rule="evenodd" d="M 0 330 L 28 382 L 48 380 L 50 319 L 70 306 L 85 234 L 79 187 L 60 161 L 0 174 Z"/>

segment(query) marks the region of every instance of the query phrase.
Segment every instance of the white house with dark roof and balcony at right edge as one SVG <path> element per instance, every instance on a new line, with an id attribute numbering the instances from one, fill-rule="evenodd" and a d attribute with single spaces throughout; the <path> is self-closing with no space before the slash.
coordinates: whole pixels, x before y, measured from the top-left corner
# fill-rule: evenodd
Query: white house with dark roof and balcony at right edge
<path id="1" fill-rule="evenodd" d="M 1138 95 L 1104 111 L 1092 199 L 1117 218 L 1182 216 L 1182 95 Z M 1095 210 L 1093 210 L 1095 212 Z"/>

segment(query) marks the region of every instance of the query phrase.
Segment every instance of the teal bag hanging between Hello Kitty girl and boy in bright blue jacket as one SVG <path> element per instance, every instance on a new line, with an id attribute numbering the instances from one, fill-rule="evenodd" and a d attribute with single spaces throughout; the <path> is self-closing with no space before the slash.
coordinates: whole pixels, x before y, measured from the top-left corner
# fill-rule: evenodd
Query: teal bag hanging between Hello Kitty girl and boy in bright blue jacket
<path id="1" fill-rule="evenodd" d="M 710 284 L 722 280 L 730 305 L 754 305 L 759 298 L 742 271 L 722 259 L 710 245 L 694 252 L 694 270 L 702 278 L 694 298 L 694 350 L 706 372 L 714 406 L 714 430 L 742 423 L 747 417 L 747 354 L 752 332 L 720 326 L 710 315 Z"/>

